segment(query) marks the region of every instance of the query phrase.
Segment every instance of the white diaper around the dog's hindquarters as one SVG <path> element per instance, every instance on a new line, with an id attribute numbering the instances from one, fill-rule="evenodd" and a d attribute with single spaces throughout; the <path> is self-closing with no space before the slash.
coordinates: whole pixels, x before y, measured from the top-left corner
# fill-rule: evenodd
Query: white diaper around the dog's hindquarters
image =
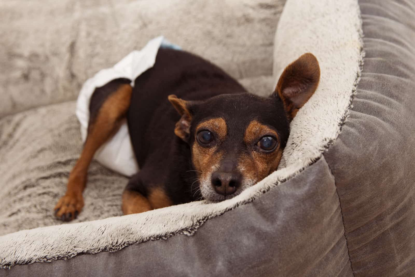
<path id="1" fill-rule="evenodd" d="M 144 71 L 154 66 L 160 47 L 180 49 L 164 37 L 156 37 L 151 39 L 140 51 L 132 51 L 115 66 L 99 71 L 83 84 L 76 103 L 76 116 L 81 123 L 83 142 L 85 142 L 88 134 L 89 103 L 95 88 L 104 86 L 117 78 L 128 78 L 131 80 L 131 85 L 134 86 L 134 80 Z M 138 172 L 139 168 L 132 150 L 127 122 L 122 124 L 120 130 L 111 140 L 98 149 L 94 157 L 105 167 L 123 175 L 132 176 Z"/>

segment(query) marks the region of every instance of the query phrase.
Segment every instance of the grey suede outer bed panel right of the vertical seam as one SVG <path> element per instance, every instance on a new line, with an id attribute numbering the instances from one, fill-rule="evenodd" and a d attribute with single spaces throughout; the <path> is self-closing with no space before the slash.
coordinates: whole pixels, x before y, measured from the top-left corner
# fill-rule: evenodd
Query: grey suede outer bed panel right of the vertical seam
<path id="1" fill-rule="evenodd" d="M 415 276 L 415 2 L 359 4 L 364 70 L 325 158 L 354 276 Z"/>

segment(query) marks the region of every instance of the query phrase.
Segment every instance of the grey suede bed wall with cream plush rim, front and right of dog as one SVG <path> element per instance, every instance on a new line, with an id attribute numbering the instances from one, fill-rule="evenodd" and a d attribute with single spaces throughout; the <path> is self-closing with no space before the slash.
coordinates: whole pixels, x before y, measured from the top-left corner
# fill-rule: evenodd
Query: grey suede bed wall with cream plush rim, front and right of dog
<path id="1" fill-rule="evenodd" d="M 3 235 L 0 274 L 415 275 L 414 17 L 410 0 L 288 0 L 274 80 L 304 52 L 321 79 L 276 172 L 221 203 Z"/>

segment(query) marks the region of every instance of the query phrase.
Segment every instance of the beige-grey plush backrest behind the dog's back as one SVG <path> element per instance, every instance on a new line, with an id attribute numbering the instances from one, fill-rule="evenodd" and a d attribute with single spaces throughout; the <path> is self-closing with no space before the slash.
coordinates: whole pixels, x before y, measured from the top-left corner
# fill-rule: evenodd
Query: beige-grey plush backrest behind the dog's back
<path id="1" fill-rule="evenodd" d="M 74 100 L 82 83 L 164 35 L 235 78 L 272 74 L 285 0 L 0 1 L 0 118 Z"/>

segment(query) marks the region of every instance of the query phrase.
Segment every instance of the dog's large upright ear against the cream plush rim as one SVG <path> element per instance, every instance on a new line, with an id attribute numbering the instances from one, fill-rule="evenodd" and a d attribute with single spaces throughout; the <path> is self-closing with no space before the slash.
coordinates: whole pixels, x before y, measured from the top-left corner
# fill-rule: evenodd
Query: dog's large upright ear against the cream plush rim
<path id="1" fill-rule="evenodd" d="M 290 121 L 313 95 L 319 81 L 320 66 L 311 53 L 303 54 L 284 69 L 273 96 L 281 98 Z"/>

